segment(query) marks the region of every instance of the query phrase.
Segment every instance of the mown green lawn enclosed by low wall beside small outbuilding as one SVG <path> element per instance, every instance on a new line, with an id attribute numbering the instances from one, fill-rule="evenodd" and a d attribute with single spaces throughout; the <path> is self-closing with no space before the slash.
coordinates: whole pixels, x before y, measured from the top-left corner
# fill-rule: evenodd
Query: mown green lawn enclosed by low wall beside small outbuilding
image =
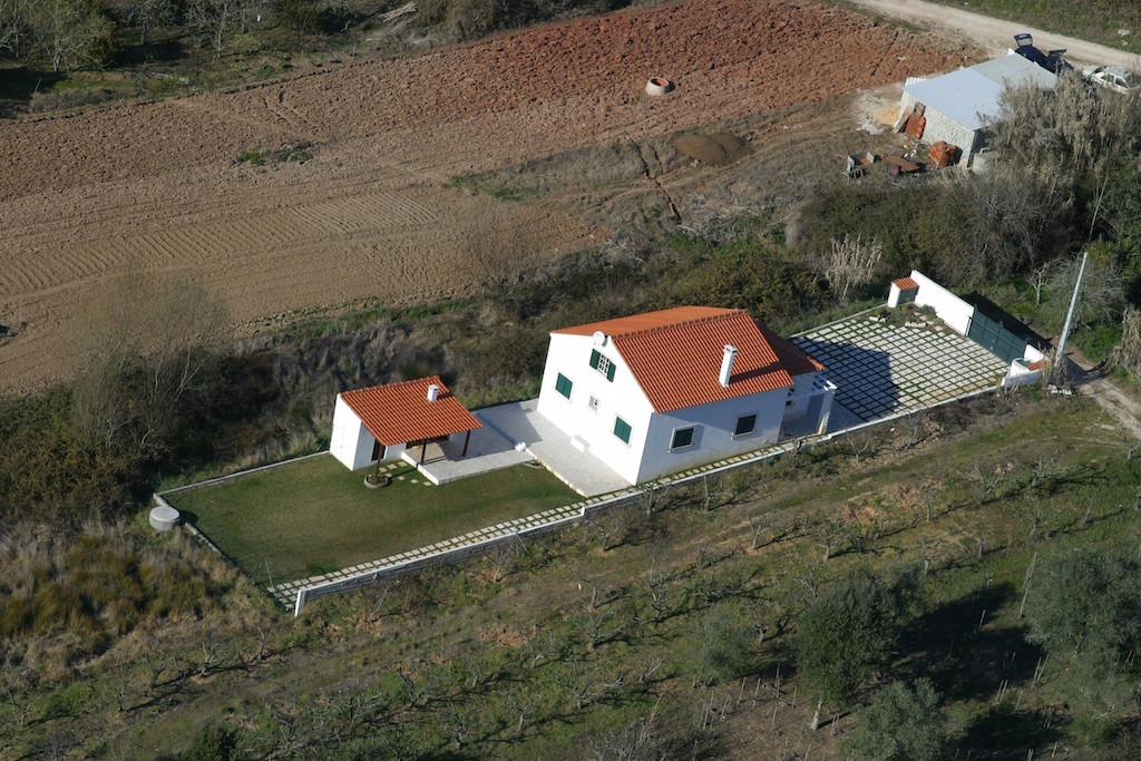
<path id="1" fill-rule="evenodd" d="M 378 560 L 580 499 L 526 465 L 424 486 L 402 463 L 378 489 L 364 486 L 370 470 L 349 472 L 326 455 L 167 499 L 259 583 Z"/>

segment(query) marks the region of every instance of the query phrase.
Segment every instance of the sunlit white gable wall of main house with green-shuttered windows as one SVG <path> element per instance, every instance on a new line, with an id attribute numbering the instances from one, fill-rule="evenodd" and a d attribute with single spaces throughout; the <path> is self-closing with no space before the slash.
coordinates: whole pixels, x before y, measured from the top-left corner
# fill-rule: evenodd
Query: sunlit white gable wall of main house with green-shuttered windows
<path id="1" fill-rule="evenodd" d="M 614 363 L 613 381 L 590 366 L 594 348 Z M 559 373 L 573 383 L 569 399 L 556 390 Z M 597 407 L 589 404 L 592 396 L 598 399 Z M 572 436 L 576 450 L 589 451 L 628 481 L 637 483 L 653 407 L 612 341 L 596 347 L 589 335 L 552 334 L 537 411 Z M 615 416 L 630 424 L 629 444 L 614 435 Z"/>

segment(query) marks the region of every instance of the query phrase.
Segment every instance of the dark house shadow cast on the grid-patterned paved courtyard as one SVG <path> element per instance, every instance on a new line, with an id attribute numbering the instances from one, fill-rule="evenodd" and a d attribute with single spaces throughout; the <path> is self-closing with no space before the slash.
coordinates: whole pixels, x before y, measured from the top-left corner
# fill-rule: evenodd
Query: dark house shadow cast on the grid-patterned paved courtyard
<path id="1" fill-rule="evenodd" d="M 811 337 L 794 338 L 792 342 L 827 367 L 828 380 L 836 386 L 836 404 L 860 421 L 871 422 L 903 411 L 900 389 L 891 372 L 891 355 L 887 351 Z"/>

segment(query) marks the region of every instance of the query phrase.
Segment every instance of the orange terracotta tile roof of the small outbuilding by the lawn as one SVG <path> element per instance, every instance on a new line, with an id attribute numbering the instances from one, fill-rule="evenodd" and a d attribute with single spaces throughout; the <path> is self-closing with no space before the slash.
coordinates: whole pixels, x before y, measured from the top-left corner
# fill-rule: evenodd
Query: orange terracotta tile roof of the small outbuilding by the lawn
<path id="1" fill-rule="evenodd" d="M 428 387 L 439 387 L 435 402 Z M 358 388 L 341 394 L 345 404 L 377 440 L 389 446 L 483 428 L 438 377 Z"/>

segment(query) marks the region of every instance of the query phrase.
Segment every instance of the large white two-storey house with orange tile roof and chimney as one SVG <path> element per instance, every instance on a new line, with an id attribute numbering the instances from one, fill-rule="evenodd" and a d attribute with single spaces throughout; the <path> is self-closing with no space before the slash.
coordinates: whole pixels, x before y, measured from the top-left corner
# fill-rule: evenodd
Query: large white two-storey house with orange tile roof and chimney
<path id="1" fill-rule="evenodd" d="M 552 332 L 537 411 L 637 484 L 825 430 L 823 370 L 743 310 L 678 307 Z"/>

